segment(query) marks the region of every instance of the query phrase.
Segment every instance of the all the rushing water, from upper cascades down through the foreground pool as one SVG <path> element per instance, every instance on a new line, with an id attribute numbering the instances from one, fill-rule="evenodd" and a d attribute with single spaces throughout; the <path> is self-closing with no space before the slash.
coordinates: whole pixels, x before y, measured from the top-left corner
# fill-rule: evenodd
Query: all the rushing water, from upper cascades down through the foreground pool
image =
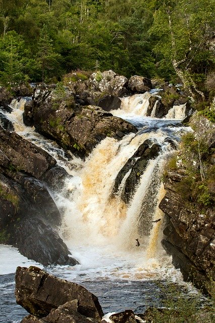
<path id="1" fill-rule="evenodd" d="M 160 280 L 183 285 L 179 270 L 173 267 L 171 257 L 160 245 L 163 212 L 158 204 L 165 195 L 161 181 L 164 165 L 181 134 L 188 129 L 180 122 L 184 117 L 183 106 L 169 116 L 177 116 L 179 120 L 153 118 L 153 110 L 151 117 L 145 117 L 150 96 L 147 92 L 122 99 L 122 109 L 113 114 L 133 123 L 139 128 L 138 133 L 129 134 L 121 141 L 105 138 L 85 162 L 35 133 L 34 128 L 24 126 L 25 100 L 19 103 L 14 100 L 12 113 L 4 113 L 18 134 L 48 151 L 72 175 L 60 192 L 50 194 L 63 215 L 60 234 L 80 264 L 45 269 L 85 286 L 98 296 L 105 313 L 126 308 L 138 313 L 148 306 L 161 306 L 157 285 Z M 128 158 L 146 139 L 159 144 L 162 150 L 149 161 L 130 204 L 126 205 L 121 193 L 129 172 L 113 195 L 114 181 Z M 162 220 L 153 223 L 156 219 Z M 136 238 L 140 241 L 139 247 L 135 245 Z M 17 322 L 25 311 L 15 305 L 14 275 L 9 273 L 14 273 L 17 265 L 29 266 L 30 263 L 10 246 L 0 246 L 0 252 L 4 260 L 0 264 L 3 289 L 0 322 Z"/>

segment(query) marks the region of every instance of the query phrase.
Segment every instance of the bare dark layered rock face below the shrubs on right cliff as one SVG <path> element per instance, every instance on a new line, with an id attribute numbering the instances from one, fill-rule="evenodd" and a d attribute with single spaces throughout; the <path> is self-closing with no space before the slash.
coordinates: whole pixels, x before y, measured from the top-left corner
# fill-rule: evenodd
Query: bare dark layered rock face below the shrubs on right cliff
<path id="1" fill-rule="evenodd" d="M 215 215 L 211 211 L 199 214 L 186 207 L 174 189 L 174 183 L 181 177 L 181 173 L 169 174 L 165 183 L 167 193 L 159 204 L 167 220 L 162 244 L 173 256 L 173 264 L 180 268 L 184 279 L 210 293 L 210 280 L 215 279 Z"/>

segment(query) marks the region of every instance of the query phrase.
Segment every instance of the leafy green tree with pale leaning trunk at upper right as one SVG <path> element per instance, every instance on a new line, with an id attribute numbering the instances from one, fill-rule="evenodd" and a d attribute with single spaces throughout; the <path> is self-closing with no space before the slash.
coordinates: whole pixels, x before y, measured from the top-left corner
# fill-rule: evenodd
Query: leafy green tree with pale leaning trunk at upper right
<path id="1" fill-rule="evenodd" d="M 214 30 L 214 5 L 214 0 L 159 2 L 151 28 L 159 37 L 154 52 L 161 58 L 160 62 L 165 62 L 166 66 L 171 63 L 193 98 L 198 94 L 203 100 L 204 93 L 195 82 L 195 73 L 200 76 L 196 62 L 205 68 L 214 62 L 208 48 Z"/>

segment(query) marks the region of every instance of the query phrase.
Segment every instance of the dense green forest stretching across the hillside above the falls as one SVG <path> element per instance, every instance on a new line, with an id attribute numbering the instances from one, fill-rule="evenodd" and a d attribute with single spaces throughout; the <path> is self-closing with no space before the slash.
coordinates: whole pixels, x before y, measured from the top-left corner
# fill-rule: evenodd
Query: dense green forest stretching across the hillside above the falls
<path id="1" fill-rule="evenodd" d="M 2 85 L 112 69 L 181 80 L 203 100 L 205 84 L 214 92 L 215 0 L 0 0 L 0 6 Z"/>

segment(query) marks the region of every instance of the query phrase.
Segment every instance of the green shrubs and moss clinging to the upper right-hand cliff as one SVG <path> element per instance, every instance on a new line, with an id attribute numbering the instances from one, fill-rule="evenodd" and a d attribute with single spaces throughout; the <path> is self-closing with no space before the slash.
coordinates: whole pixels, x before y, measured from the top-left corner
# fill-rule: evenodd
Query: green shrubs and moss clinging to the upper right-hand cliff
<path id="1" fill-rule="evenodd" d="M 186 175 L 176 185 L 185 200 L 202 209 L 212 207 L 215 201 L 215 168 L 210 163 L 213 150 L 204 140 L 204 135 L 197 139 L 193 132 L 182 137 L 180 158 L 186 167 Z"/>

